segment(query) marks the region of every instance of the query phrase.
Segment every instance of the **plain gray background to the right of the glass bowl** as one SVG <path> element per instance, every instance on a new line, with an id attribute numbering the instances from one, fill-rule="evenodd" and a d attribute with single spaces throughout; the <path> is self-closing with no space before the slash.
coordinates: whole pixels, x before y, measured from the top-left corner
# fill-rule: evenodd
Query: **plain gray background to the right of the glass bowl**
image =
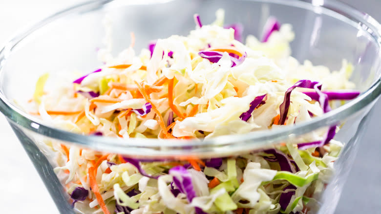
<path id="1" fill-rule="evenodd" d="M 342 0 L 381 22 L 381 0 Z M 360 141 L 352 170 L 341 193 L 337 214 L 381 213 L 381 102 L 376 106 Z"/>

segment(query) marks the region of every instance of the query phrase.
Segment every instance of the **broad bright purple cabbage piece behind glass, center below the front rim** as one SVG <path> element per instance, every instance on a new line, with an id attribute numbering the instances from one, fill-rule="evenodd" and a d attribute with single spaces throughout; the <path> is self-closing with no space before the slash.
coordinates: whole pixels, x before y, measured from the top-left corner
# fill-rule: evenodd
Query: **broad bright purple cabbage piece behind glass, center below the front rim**
<path id="1" fill-rule="evenodd" d="M 191 174 L 183 166 L 173 167 L 169 170 L 169 174 L 173 176 L 173 183 L 179 191 L 187 195 L 188 201 L 192 202 L 196 197 L 196 192 L 193 188 Z"/>

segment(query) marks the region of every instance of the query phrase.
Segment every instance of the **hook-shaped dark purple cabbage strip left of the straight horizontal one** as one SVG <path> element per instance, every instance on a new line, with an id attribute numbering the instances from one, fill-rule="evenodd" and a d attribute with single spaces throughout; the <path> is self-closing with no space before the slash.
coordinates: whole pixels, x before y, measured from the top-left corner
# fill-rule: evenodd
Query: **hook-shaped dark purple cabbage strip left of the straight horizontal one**
<path id="1" fill-rule="evenodd" d="M 290 97 L 291 97 L 291 92 L 296 88 L 296 87 L 303 87 L 303 88 L 314 88 L 314 86 L 318 85 L 318 89 L 321 89 L 321 84 L 318 82 L 311 82 L 310 80 L 299 80 L 296 82 L 296 84 L 289 89 L 287 89 L 286 93 L 284 94 L 284 99 L 283 103 L 280 104 L 279 106 L 279 125 L 284 125 L 284 122 L 286 122 L 287 114 L 288 114 L 288 109 L 290 107 Z"/>

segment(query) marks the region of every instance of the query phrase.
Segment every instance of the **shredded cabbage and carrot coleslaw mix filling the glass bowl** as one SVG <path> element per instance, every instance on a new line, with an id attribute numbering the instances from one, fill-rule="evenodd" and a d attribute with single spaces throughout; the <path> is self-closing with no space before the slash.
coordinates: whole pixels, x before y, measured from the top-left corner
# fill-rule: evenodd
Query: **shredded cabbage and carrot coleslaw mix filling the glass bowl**
<path id="1" fill-rule="evenodd" d="M 209 139 L 292 126 L 319 117 L 360 91 L 353 66 L 338 71 L 291 57 L 293 26 L 275 17 L 262 37 L 242 36 L 224 10 L 188 36 L 173 35 L 118 56 L 71 82 L 42 75 L 27 109 L 43 123 L 86 135 Z M 191 17 L 190 17 L 191 19 Z M 110 41 L 109 21 L 104 21 Z M 305 214 L 319 209 L 343 144 L 339 124 L 238 156 L 140 159 L 45 140 L 76 213 Z"/>

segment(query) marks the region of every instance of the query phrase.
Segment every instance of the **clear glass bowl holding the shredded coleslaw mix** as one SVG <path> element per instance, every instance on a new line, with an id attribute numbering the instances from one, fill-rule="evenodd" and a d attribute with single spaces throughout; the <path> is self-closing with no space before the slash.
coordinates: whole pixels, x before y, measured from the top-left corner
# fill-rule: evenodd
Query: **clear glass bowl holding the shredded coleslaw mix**
<path id="1" fill-rule="evenodd" d="M 214 11 L 224 8 L 226 22 L 241 22 L 244 36 L 259 36 L 264 21 L 275 16 L 281 23 L 294 26 L 296 38 L 293 56 L 310 60 L 331 70 L 339 69 L 342 59 L 354 65 L 351 77 L 362 93 L 321 117 L 295 126 L 244 135 L 232 135 L 205 141 L 148 139 L 122 140 L 83 136 L 45 126 L 17 103 L 28 100 L 37 78 L 63 70 L 91 71 L 97 61 L 97 47 L 105 37 L 102 19 L 113 21 L 113 53 L 129 45 L 129 32 L 136 35 L 136 50 L 148 41 L 172 34 L 187 35 L 194 28 L 192 15 L 214 20 Z M 200 158 L 245 154 L 260 148 L 288 142 L 318 128 L 341 124 L 335 139 L 345 145 L 335 162 L 336 173 L 319 202 L 318 213 L 334 213 L 339 196 L 354 160 L 367 114 L 381 93 L 380 24 L 367 14 L 336 0 L 100 0 L 59 12 L 25 30 L 5 44 L 0 51 L 0 110 L 16 132 L 33 161 L 60 213 L 73 213 L 71 201 L 53 171 L 57 166 L 45 142 L 68 147 L 112 152 L 140 158 L 172 158 L 185 154 Z M 43 204 L 43 202 L 42 202 Z"/>

